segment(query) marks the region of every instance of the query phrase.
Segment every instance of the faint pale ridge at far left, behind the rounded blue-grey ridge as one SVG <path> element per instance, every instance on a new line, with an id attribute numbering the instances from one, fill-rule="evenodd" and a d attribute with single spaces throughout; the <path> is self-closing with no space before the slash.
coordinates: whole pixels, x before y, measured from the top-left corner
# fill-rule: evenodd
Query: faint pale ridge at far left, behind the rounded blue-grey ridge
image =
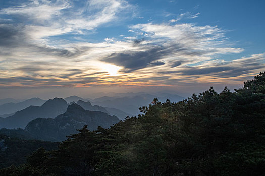
<path id="1" fill-rule="evenodd" d="M 30 105 L 40 106 L 42 105 L 46 100 L 42 100 L 40 98 L 31 98 L 22 102 L 18 103 L 5 103 L 3 105 L 0 105 L 0 114 L 11 114 L 15 113 L 19 110 L 22 110 L 24 108 L 27 108 Z"/>

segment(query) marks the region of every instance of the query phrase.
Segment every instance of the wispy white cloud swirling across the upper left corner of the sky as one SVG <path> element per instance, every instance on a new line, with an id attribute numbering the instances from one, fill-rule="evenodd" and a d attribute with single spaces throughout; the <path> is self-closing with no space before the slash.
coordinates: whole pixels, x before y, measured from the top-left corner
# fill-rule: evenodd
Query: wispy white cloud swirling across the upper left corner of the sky
<path id="1" fill-rule="evenodd" d="M 24 22 L 32 38 L 45 38 L 67 33 L 84 33 L 100 25 L 120 21 L 132 6 L 124 0 L 110 1 L 31 1 L 0 10 L 0 16 Z M 132 13 L 132 12 L 131 12 Z M 2 19 L 2 18 L 1 18 Z M 3 18 L 5 19 L 5 18 Z M 34 25 L 31 25 L 34 24 Z"/>

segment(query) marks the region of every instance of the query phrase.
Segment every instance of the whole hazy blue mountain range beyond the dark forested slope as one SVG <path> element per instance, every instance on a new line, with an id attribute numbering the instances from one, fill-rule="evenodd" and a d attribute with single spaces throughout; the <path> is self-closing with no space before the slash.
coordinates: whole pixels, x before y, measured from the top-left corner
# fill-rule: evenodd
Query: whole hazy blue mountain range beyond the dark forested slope
<path id="1" fill-rule="evenodd" d="M 121 97 L 124 95 L 128 96 Z M 98 126 L 108 128 L 127 116 L 136 116 L 140 113 L 138 108 L 149 104 L 155 97 L 162 101 L 168 97 L 174 101 L 184 99 L 167 93 L 160 93 L 159 96 L 141 92 L 103 96 L 94 100 L 70 96 L 47 101 L 31 98 L 17 103 L 5 103 L 0 105 L 0 110 L 5 113 L 27 107 L 0 117 L 0 134 L 21 139 L 62 141 L 66 136 L 77 133 L 76 129 L 84 125 L 88 125 L 89 130 L 95 130 Z"/>

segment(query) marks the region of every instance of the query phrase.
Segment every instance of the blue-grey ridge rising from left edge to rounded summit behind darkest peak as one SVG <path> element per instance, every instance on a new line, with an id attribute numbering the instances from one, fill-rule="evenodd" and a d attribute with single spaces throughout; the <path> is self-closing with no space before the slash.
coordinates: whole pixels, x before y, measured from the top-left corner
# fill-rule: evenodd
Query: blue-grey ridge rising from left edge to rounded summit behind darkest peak
<path id="1" fill-rule="evenodd" d="M 25 128 L 25 126 L 36 118 L 54 118 L 67 109 L 67 102 L 61 98 L 49 99 L 41 106 L 29 106 L 14 115 L 2 120 L 0 128 Z"/>

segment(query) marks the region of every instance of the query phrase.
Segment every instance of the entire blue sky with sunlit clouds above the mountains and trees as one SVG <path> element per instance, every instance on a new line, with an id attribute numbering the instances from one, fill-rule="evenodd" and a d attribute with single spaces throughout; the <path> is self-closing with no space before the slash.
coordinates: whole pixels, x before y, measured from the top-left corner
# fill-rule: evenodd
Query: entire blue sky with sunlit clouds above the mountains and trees
<path id="1" fill-rule="evenodd" d="M 265 1 L 0 0 L 0 98 L 241 87 Z"/>

